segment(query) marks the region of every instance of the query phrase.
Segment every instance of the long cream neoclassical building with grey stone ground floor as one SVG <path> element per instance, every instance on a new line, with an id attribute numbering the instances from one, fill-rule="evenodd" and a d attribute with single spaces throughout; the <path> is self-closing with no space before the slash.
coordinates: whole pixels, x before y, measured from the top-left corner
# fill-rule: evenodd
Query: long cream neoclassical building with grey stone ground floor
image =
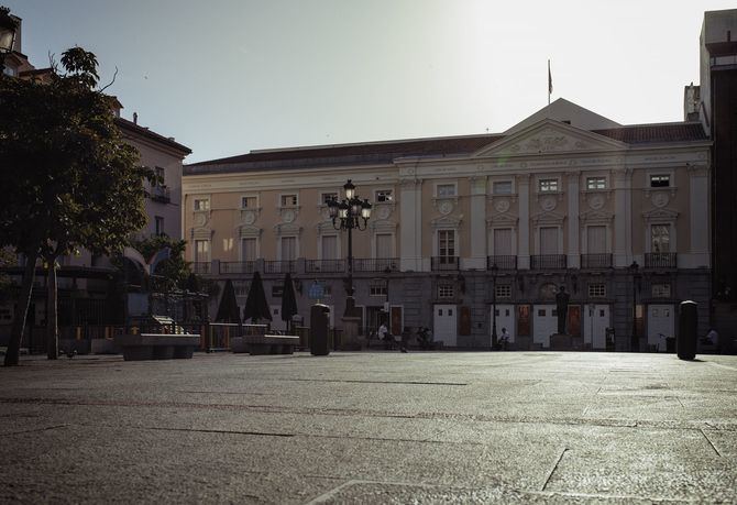
<path id="1" fill-rule="evenodd" d="M 373 204 L 353 230 L 364 332 L 388 314 L 394 332 L 427 326 L 449 347 L 488 348 L 496 327 L 519 349 L 549 349 L 564 286 L 574 347 L 664 351 L 680 301 L 697 301 L 708 326 L 710 150 L 697 121 L 622 125 L 559 99 L 499 134 L 186 165 L 184 238 L 241 306 L 258 270 L 278 326 L 290 272 L 301 314 L 318 284 L 340 327 L 348 244 L 327 201 L 350 178 Z"/>

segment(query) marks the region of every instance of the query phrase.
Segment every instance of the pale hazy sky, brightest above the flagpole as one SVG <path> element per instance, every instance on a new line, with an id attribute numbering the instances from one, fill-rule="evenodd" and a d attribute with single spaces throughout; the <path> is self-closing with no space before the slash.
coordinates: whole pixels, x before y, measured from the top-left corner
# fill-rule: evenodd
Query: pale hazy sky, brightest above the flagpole
<path id="1" fill-rule="evenodd" d="M 0 0 L 36 67 L 95 53 L 122 116 L 193 150 L 498 133 L 565 98 L 680 121 L 707 10 L 734 0 Z"/>

